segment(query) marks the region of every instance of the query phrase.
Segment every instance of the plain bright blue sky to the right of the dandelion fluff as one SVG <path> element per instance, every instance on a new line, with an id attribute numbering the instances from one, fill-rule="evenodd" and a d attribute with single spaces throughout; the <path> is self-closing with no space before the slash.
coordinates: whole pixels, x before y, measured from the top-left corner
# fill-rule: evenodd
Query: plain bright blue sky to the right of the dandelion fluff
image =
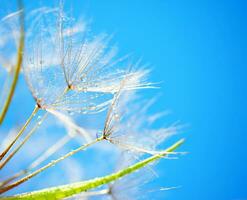
<path id="1" fill-rule="evenodd" d="M 42 5 L 30 2 L 27 7 Z M 93 31 L 115 33 L 122 55 L 151 63 L 150 80 L 162 81 L 159 91 L 146 92 L 162 94 L 153 111 L 171 110 L 170 121 L 188 124 L 180 136 L 189 154 L 161 161 L 154 183 L 181 187 L 161 199 L 247 199 L 247 2 L 73 0 L 66 8 L 71 5 Z"/>

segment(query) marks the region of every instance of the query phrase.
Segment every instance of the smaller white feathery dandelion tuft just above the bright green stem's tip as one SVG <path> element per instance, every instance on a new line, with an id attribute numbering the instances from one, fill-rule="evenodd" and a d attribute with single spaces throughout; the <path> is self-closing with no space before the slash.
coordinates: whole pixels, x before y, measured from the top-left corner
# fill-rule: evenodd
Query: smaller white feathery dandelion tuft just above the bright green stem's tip
<path id="1" fill-rule="evenodd" d="M 141 154 L 159 153 L 157 146 L 164 140 L 177 133 L 179 126 L 171 125 L 168 128 L 152 129 L 150 117 L 147 110 L 152 104 L 146 102 L 143 105 L 135 105 L 132 101 L 136 100 L 134 93 L 122 92 L 115 96 L 115 101 L 109 109 L 105 122 L 103 134 L 111 143 L 121 149 Z M 117 117 L 116 117 L 117 116 Z M 162 113 L 154 114 L 158 119 Z"/>

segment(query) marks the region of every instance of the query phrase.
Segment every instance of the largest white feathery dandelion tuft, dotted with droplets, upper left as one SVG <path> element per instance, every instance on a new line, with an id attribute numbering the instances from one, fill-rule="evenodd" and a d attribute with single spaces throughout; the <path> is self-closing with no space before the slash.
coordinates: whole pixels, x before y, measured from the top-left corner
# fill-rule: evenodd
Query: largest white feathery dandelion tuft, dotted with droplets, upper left
<path id="1" fill-rule="evenodd" d="M 148 70 L 128 73 L 130 66 L 123 68 L 126 57 L 115 59 L 110 37 L 88 37 L 85 26 L 73 26 L 72 21 L 60 8 L 43 13 L 32 27 L 37 34 L 26 44 L 24 75 L 40 108 L 101 112 L 126 77 L 124 90 L 154 87 L 145 80 Z"/>

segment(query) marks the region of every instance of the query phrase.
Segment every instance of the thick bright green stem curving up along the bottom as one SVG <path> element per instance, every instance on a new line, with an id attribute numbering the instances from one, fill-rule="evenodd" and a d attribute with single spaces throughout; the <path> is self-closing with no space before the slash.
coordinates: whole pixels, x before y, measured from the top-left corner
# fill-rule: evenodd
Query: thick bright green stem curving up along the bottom
<path id="1" fill-rule="evenodd" d="M 88 190 L 97 188 L 101 185 L 110 183 L 112 181 L 118 180 L 123 176 L 126 176 L 128 174 L 131 174 L 149 163 L 152 163 L 156 160 L 159 160 L 160 158 L 164 157 L 167 155 L 169 152 L 173 152 L 175 149 L 177 149 L 181 144 L 183 144 L 184 140 L 181 139 L 175 144 L 173 144 L 171 147 L 166 149 L 164 152 L 161 152 L 157 155 L 151 156 L 143 161 L 140 161 L 130 167 L 127 167 L 123 170 L 120 170 L 116 173 L 101 177 L 101 178 L 95 178 L 92 180 L 88 181 L 83 181 L 83 182 L 77 182 L 73 184 L 68 184 L 68 185 L 62 185 L 58 187 L 52 187 L 48 189 L 43 189 L 43 190 L 38 190 L 34 192 L 29 192 L 29 193 L 23 193 L 19 194 L 16 196 L 10 196 L 10 197 L 3 197 L 1 199 L 9 199 L 9 200 L 15 200 L 15 199 L 26 199 L 26 200 L 31 200 L 31 199 L 36 199 L 36 200 L 41 200 L 41 199 L 62 199 L 66 197 L 70 197 L 72 195 L 79 194 L 81 192 L 86 192 Z"/>

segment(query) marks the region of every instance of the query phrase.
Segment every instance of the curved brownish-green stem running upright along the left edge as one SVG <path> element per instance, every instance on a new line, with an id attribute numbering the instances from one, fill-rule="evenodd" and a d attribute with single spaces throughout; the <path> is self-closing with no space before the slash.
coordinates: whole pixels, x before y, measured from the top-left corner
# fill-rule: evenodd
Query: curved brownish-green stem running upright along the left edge
<path id="1" fill-rule="evenodd" d="M 21 0 L 19 0 L 19 8 L 20 9 L 23 8 Z M 13 81 L 11 83 L 9 93 L 7 95 L 7 98 L 6 98 L 5 103 L 3 105 L 3 109 L 2 109 L 1 114 L 0 114 L 0 125 L 2 124 L 2 122 L 6 116 L 6 113 L 9 109 L 9 105 L 10 105 L 10 102 L 11 102 L 12 97 L 14 95 L 16 84 L 17 84 L 18 77 L 19 77 L 19 73 L 21 70 L 21 65 L 22 65 L 22 60 L 23 60 L 22 52 L 24 49 L 24 37 L 25 37 L 24 35 L 25 35 L 24 34 L 24 11 L 22 11 L 20 14 L 20 40 L 19 40 L 18 53 L 17 53 L 17 63 L 16 63 L 16 67 L 14 70 Z"/>

